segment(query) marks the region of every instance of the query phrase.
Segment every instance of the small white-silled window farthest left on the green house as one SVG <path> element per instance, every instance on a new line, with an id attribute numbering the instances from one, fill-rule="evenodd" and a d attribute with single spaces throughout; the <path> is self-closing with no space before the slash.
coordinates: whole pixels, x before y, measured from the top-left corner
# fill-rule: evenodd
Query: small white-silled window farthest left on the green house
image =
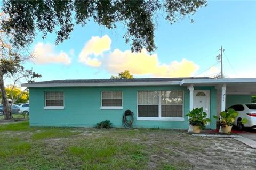
<path id="1" fill-rule="evenodd" d="M 64 93 L 63 92 L 45 92 L 45 108 L 63 109 Z"/>

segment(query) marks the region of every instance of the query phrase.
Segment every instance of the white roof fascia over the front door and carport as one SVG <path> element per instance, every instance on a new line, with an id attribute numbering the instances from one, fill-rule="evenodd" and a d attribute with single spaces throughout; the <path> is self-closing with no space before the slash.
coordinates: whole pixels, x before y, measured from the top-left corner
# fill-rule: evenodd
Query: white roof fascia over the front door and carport
<path id="1" fill-rule="evenodd" d="M 235 79 L 183 79 L 180 86 L 187 84 L 256 83 L 256 78 Z"/>

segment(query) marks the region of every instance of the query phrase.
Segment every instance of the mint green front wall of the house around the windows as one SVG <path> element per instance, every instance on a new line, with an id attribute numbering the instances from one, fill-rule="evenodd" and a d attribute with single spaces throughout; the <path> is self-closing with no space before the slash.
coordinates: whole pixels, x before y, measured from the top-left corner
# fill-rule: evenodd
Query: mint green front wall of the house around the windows
<path id="1" fill-rule="evenodd" d="M 211 90 L 211 113 L 216 106 L 216 91 Z M 101 91 L 122 91 L 122 110 L 101 110 Z M 137 117 L 137 91 L 183 90 L 183 117 L 185 121 L 139 121 Z M 30 126 L 94 127 L 96 123 L 110 120 L 114 127 L 122 127 L 124 111 L 134 112 L 133 127 L 188 129 L 189 90 L 180 86 L 133 86 L 133 87 L 30 87 Z M 45 91 L 63 91 L 64 109 L 44 109 Z M 215 108 L 214 108 L 215 107 Z M 208 128 L 215 129 L 215 123 Z"/>

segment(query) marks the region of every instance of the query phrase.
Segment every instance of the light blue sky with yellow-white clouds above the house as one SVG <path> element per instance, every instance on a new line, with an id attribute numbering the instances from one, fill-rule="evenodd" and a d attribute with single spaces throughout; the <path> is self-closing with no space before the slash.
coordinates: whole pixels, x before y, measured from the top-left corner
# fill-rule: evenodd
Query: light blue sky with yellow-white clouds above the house
<path id="1" fill-rule="evenodd" d="M 190 19 L 195 22 L 191 23 Z M 175 24 L 159 18 L 157 49 L 132 53 L 122 38 L 126 29 L 109 30 L 93 21 L 75 26 L 70 39 L 56 46 L 56 36 L 38 35 L 31 45 L 35 58 L 25 64 L 42 74 L 36 81 L 107 79 L 129 70 L 134 78 L 213 77 L 223 53 L 226 78 L 256 78 L 256 1 L 208 1 L 195 15 Z"/>

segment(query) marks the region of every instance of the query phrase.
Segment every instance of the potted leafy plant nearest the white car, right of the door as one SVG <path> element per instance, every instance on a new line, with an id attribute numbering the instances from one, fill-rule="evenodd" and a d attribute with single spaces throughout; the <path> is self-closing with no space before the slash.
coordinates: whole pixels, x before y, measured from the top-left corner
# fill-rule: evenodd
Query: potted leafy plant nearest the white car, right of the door
<path id="1" fill-rule="evenodd" d="M 230 134 L 233 123 L 235 121 L 235 118 L 238 115 L 239 115 L 238 112 L 236 112 L 234 109 L 230 108 L 230 109 L 228 109 L 228 111 L 220 112 L 220 117 L 215 116 L 215 115 L 213 117 L 216 119 L 219 119 L 219 122 L 220 122 L 219 125 L 221 126 L 223 133 Z M 247 121 L 248 120 L 246 118 L 243 118 L 241 120 L 241 123 L 245 124 L 245 123 L 247 123 Z"/>

